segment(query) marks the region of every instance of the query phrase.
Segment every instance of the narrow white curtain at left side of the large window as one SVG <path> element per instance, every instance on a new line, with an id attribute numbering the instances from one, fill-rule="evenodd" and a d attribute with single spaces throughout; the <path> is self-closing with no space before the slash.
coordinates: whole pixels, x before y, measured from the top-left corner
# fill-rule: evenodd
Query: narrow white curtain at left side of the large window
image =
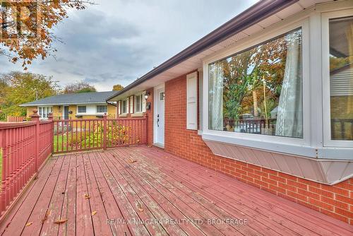
<path id="1" fill-rule="evenodd" d="M 209 129 L 223 130 L 223 66 L 221 62 L 210 66 Z"/>

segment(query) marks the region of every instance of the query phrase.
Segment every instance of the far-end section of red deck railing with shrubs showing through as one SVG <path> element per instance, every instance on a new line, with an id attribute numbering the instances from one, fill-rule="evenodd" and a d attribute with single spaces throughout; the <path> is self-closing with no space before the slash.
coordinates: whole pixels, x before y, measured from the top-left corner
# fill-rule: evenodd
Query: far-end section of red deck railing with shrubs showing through
<path id="1" fill-rule="evenodd" d="M 147 143 L 147 118 L 54 120 L 54 153 Z"/>

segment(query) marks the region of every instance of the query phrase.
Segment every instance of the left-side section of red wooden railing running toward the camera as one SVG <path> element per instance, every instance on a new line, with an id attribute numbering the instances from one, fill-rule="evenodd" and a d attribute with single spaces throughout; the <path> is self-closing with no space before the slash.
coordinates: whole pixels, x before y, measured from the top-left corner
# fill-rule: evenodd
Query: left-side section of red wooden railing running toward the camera
<path id="1" fill-rule="evenodd" d="M 0 214 L 18 196 L 52 153 L 52 121 L 0 124 Z"/>

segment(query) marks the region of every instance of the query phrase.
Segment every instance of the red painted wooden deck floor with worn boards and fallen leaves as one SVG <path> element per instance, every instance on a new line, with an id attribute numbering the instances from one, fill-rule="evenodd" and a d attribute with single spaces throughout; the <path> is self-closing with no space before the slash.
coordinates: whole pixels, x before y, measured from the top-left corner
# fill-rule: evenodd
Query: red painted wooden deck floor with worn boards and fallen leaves
<path id="1" fill-rule="evenodd" d="M 2 235 L 353 235 L 341 221 L 147 146 L 52 157 L 0 230 Z"/>

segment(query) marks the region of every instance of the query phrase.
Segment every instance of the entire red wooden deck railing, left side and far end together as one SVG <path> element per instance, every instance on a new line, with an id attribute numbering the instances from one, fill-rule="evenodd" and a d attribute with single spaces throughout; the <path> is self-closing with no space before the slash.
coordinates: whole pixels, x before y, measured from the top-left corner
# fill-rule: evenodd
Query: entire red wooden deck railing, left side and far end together
<path id="1" fill-rule="evenodd" d="M 0 216 L 52 153 L 147 143 L 147 118 L 64 119 L 0 124 Z"/>

